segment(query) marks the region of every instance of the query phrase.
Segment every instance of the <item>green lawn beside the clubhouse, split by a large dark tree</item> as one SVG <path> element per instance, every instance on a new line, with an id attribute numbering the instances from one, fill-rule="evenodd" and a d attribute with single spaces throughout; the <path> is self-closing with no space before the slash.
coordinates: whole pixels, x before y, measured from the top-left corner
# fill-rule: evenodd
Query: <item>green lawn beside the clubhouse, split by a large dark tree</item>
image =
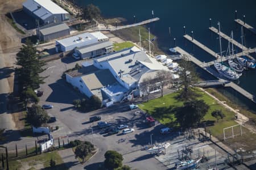
<path id="1" fill-rule="evenodd" d="M 233 120 L 234 113 L 228 111 L 223 105 L 218 104 L 216 100 L 204 92 L 200 92 L 200 94 L 201 96 L 198 99 L 204 100 L 210 107 L 202 121 L 208 123 L 214 122 L 214 126 L 209 126 L 208 130 L 210 130 L 214 136 L 221 137 L 223 128 L 237 124 L 237 122 Z M 183 102 L 176 100 L 177 95 L 178 93 L 176 92 L 158 99 L 150 100 L 147 103 L 139 104 L 139 108 L 144 112 L 151 114 L 161 124 L 171 127 L 179 127 L 179 124 L 176 122 L 175 110 L 177 107 L 181 107 Z M 216 118 L 211 115 L 212 111 L 215 109 L 221 109 L 225 114 L 225 118 L 223 120 L 219 120 L 218 123 Z"/>

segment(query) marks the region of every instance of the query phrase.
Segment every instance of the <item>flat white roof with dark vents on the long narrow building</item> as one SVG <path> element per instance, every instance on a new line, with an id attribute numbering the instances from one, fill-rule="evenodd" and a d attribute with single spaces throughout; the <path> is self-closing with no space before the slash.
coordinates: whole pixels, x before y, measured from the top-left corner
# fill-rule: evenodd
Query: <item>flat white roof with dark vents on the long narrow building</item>
<path id="1" fill-rule="evenodd" d="M 57 40 L 56 42 L 59 42 L 59 44 L 61 44 L 63 46 L 71 46 L 71 45 L 79 44 L 81 42 L 89 41 L 92 39 L 97 40 L 97 38 L 94 37 L 93 35 L 91 35 L 89 32 L 85 32 L 80 35 L 68 37 L 68 38 L 62 39 L 62 40 Z"/>

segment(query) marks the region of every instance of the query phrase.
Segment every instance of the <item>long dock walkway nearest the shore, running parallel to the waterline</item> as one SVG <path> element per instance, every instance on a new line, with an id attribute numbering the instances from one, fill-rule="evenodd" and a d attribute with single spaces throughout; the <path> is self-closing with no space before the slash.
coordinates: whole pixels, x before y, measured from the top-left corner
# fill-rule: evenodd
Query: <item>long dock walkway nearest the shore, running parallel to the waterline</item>
<path id="1" fill-rule="evenodd" d="M 237 92 L 239 92 L 241 95 L 245 96 L 247 99 L 253 101 L 254 103 L 256 103 L 256 98 L 254 95 L 251 95 L 249 92 L 247 92 L 246 90 L 244 90 L 243 88 L 241 88 L 240 86 L 238 86 L 237 84 L 230 82 L 228 80 L 223 79 L 220 74 L 217 73 L 217 71 L 213 70 L 212 68 L 210 68 L 209 66 L 205 66 L 205 63 L 199 61 L 199 59 L 197 59 L 196 57 L 192 56 L 191 54 L 187 53 L 185 50 L 181 49 L 180 47 L 176 46 L 174 48 L 178 53 L 180 53 L 181 55 L 186 55 L 189 57 L 189 59 L 195 63 L 197 66 L 201 67 L 202 69 L 204 69 L 205 71 L 207 71 L 209 74 L 215 76 L 219 82 L 223 82 L 224 83 L 224 87 L 231 87 L 234 90 L 236 90 Z"/>

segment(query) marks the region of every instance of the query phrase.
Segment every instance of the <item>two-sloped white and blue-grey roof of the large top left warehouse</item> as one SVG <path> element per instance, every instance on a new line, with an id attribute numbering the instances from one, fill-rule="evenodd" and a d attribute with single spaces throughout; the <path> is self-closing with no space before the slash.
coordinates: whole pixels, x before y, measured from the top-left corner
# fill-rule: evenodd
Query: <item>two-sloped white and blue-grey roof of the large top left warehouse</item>
<path id="1" fill-rule="evenodd" d="M 23 6 L 41 19 L 46 19 L 52 14 L 68 14 L 63 8 L 51 0 L 27 0 Z"/>

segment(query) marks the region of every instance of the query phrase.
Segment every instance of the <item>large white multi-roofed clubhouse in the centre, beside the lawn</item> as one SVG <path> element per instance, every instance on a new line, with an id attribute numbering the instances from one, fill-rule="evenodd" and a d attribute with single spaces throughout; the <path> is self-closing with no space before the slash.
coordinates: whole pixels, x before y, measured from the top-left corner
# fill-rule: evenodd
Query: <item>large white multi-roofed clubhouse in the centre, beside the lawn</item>
<path id="1" fill-rule="evenodd" d="M 91 65 L 66 73 L 66 80 L 88 97 L 97 95 L 101 100 L 118 102 L 132 91 L 141 96 L 139 83 L 147 76 L 155 77 L 159 70 L 168 68 L 134 46 L 94 58 Z"/>

